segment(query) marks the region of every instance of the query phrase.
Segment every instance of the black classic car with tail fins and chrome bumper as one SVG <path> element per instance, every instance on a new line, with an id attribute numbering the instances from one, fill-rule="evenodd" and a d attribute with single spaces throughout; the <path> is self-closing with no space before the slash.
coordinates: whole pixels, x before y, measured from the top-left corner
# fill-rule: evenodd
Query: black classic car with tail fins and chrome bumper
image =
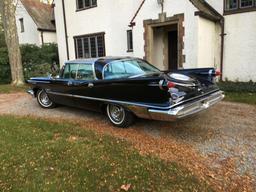
<path id="1" fill-rule="evenodd" d="M 163 72 L 139 58 L 104 57 L 68 61 L 56 78 L 31 78 L 28 93 L 43 108 L 101 111 L 128 127 L 135 117 L 173 121 L 216 104 L 224 98 L 218 75 L 214 68 Z"/>

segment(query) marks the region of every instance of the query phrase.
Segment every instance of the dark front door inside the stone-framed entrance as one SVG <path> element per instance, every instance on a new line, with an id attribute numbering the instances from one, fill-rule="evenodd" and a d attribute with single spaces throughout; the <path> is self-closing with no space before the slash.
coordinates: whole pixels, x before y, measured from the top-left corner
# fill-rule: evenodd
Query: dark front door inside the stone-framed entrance
<path id="1" fill-rule="evenodd" d="M 178 31 L 168 32 L 168 63 L 170 71 L 178 69 Z"/>

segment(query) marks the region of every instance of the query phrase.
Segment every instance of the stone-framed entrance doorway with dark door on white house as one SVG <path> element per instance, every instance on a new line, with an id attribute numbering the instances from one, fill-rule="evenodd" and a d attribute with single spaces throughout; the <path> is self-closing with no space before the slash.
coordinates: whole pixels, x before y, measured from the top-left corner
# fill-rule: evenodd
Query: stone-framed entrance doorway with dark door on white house
<path id="1" fill-rule="evenodd" d="M 184 14 L 144 20 L 145 59 L 163 71 L 183 68 Z"/>

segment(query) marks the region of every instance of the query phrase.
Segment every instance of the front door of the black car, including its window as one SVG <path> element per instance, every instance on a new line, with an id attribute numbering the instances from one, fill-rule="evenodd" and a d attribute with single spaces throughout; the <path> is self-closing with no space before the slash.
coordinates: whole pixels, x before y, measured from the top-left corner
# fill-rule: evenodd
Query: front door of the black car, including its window
<path id="1" fill-rule="evenodd" d="M 63 73 L 59 78 L 51 79 L 51 88 L 47 90 L 50 99 L 58 104 L 75 106 L 73 91 L 79 64 L 65 64 Z"/>

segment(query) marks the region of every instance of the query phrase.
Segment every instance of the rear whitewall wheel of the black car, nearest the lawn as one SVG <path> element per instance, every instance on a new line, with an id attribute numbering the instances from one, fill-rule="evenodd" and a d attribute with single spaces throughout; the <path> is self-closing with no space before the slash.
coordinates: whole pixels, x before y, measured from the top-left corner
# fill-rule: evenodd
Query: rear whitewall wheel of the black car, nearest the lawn
<path id="1" fill-rule="evenodd" d="M 134 115 L 125 110 L 122 106 L 115 104 L 107 105 L 107 115 L 110 122 L 121 128 L 127 128 L 134 123 Z"/>

